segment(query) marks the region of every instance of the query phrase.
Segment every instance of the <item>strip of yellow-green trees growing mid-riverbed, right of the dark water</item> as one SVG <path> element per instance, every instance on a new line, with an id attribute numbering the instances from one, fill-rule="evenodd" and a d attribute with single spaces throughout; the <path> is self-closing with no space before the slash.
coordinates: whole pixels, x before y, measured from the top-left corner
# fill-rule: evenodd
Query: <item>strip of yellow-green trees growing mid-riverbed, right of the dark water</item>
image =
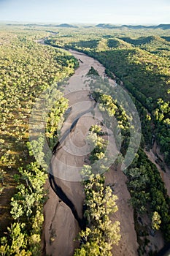
<path id="1" fill-rule="evenodd" d="M 97 170 L 94 167 L 98 160 L 107 158 L 105 154 L 107 141 L 101 137 L 101 127 L 95 125 L 90 128 L 88 143 L 93 146 L 89 159 L 90 165 L 85 165 L 81 171 L 82 186 L 85 191 L 86 229 L 80 232 L 80 249 L 75 249 L 74 255 L 101 255 L 111 256 L 113 244 L 120 241 L 120 222 L 111 219 L 118 208 L 117 196 L 111 187 L 105 186 L 104 170 L 102 164 Z M 101 174 L 100 174 L 101 173 Z"/>

